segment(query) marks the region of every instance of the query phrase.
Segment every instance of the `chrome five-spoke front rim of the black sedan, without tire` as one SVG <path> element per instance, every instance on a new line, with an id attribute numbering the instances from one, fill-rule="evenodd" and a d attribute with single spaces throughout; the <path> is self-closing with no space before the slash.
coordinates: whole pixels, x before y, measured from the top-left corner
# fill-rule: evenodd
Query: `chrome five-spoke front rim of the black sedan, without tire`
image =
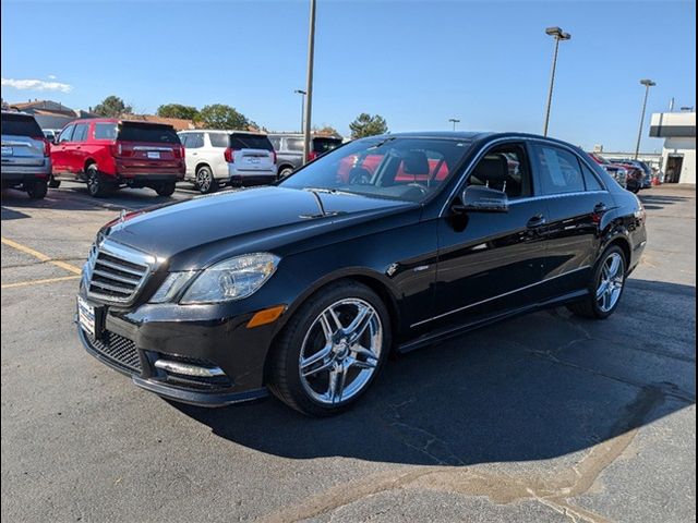
<path id="1" fill-rule="evenodd" d="M 315 401 L 334 405 L 360 393 L 376 370 L 383 325 L 359 299 L 335 302 L 313 321 L 299 357 L 301 384 Z"/>

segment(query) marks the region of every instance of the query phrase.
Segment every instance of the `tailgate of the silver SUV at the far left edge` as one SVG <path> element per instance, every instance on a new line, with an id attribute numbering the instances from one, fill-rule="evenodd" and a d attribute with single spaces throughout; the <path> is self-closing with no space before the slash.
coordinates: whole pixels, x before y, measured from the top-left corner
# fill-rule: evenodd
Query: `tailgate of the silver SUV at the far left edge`
<path id="1" fill-rule="evenodd" d="M 48 143 L 34 117 L 2 113 L 2 167 L 41 167 Z"/>

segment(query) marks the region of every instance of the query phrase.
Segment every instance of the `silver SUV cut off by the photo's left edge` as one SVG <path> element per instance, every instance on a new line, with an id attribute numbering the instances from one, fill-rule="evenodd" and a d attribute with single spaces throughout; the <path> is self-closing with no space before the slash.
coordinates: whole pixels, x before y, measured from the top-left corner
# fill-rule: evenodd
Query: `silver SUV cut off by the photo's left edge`
<path id="1" fill-rule="evenodd" d="M 51 145 L 32 114 L 2 111 L 2 188 L 40 199 L 51 174 Z"/>

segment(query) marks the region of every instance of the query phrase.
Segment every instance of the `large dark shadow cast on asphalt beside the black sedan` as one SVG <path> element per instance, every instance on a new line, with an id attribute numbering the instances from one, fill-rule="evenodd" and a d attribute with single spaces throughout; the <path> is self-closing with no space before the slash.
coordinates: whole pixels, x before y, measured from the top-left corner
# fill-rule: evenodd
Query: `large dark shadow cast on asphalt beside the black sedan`
<path id="1" fill-rule="evenodd" d="M 388 362 L 347 413 L 272 399 L 172 405 L 231 442 L 289 459 L 467 465 L 589 449 L 695 403 L 694 287 L 630 280 L 616 315 L 558 308 Z"/>

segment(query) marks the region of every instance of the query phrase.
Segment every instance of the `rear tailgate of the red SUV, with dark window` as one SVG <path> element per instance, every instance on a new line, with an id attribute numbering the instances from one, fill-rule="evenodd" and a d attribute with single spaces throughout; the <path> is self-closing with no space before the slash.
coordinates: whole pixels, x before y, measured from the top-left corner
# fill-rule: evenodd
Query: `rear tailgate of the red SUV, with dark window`
<path id="1" fill-rule="evenodd" d="M 181 142 L 171 125 L 122 122 L 117 141 L 129 169 L 174 169 L 181 166 Z"/>

